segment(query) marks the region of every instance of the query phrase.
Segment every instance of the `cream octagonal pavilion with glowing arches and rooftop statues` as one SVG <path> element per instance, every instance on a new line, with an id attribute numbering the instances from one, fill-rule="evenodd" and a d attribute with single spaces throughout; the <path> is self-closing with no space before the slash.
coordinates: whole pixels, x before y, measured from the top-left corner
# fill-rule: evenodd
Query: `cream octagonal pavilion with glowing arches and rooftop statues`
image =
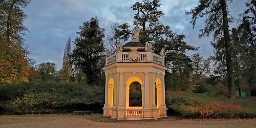
<path id="1" fill-rule="evenodd" d="M 105 59 L 105 103 L 103 116 L 116 120 L 152 120 L 165 118 L 165 89 L 163 50 L 153 53 L 152 44 L 141 44 L 139 27 L 132 40 L 117 44 L 116 53 Z M 132 82 L 141 86 L 141 106 L 129 106 Z"/>

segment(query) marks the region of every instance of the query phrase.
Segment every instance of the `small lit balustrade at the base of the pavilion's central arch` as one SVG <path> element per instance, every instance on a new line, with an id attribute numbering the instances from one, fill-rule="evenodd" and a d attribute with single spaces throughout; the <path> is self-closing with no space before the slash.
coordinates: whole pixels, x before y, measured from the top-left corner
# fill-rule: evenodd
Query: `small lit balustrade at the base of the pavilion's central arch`
<path id="1" fill-rule="evenodd" d="M 141 120 L 143 119 L 142 110 L 126 110 L 125 118 L 127 120 Z"/>

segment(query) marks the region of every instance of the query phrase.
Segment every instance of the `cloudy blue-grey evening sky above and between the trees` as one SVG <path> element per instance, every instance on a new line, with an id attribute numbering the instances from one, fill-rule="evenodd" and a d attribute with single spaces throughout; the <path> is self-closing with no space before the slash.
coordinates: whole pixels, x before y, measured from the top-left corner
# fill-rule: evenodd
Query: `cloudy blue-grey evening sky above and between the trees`
<path id="1" fill-rule="evenodd" d="M 110 32 L 113 22 L 119 24 L 128 23 L 131 30 L 134 28 L 133 20 L 136 13 L 131 6 L 139 0 L 32 0 L 24 9 L 28 17 L 24 24 L 29 32 L 26 32 L 25 46 L 30 52 L 29 58 L 37 64 L 41 62 L 54 62 L 57 69 L 62 67 L 63 51 L 69 37 L 73 41 L 78 34 L 79 25 L 97 16 L 101 28 L 105 29 L 105 35 Z M 140 1 L 139 1 L 140 2 Z M 238 17 L 245 10 L 244 3 L 247 0 L 233 0 L 228 5 L 230 15 Z M 195 29 L 189 23 L 191 15 L 186 15 L 185 10 L 195 8 L 198 0 L 162 0 L 160 10 L 164 16 L 160 21 L 172 28 L 177 34 L 184 34 L 184 41 L 188 45 L 199 47 L 196 52 L 187 51 L 188 55 L 200 53 L 204 57 L 214 55 L 214 49 L 210 46 L 212 37 L 198 38 L 199 30 L 204 27 L 204 19 L 198 19 Z M 236 27 L 237 23 L 230 25 Z"/>

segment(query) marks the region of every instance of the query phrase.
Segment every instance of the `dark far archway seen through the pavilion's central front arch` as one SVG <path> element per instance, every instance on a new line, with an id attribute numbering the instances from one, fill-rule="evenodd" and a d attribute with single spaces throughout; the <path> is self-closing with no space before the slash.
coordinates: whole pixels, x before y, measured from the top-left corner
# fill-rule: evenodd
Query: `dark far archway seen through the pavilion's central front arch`
<path id="1" fill-rule="evenodd" d="M 142 106 L 141 84 L 134 81 L 130 84 L 129 106 Z"/>

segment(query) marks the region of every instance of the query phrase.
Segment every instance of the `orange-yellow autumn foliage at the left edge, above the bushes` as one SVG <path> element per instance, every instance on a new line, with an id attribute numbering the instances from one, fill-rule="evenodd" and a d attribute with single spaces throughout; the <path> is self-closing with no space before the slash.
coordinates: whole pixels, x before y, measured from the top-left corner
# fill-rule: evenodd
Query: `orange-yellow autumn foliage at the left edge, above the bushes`
<path id="1" fill-rule="evenodd" d="M 26 50 L 15 47 L 15 43 L 0 40 L 0 83 L 28 81 L 31 69 L 25 58 Z"/>

